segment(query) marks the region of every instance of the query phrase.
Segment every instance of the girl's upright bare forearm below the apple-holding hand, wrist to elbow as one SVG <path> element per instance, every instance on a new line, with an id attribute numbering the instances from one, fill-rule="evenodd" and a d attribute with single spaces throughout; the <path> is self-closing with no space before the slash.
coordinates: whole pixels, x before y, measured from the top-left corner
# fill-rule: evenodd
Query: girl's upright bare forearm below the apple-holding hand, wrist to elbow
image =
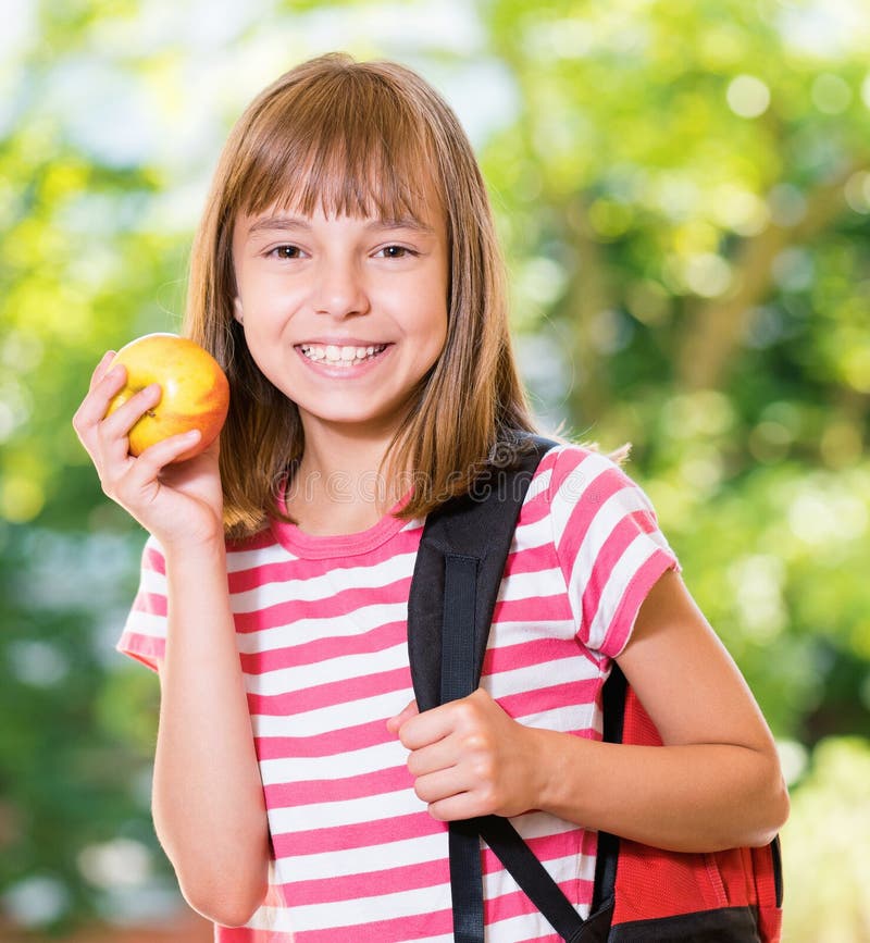
<path id="1" fill-rule="evenodd" d="M 270 846 L 223 541 L 166 550 L 166 578 L 154 828 L 190 906 L 238 926 L 265 896 Z"/>

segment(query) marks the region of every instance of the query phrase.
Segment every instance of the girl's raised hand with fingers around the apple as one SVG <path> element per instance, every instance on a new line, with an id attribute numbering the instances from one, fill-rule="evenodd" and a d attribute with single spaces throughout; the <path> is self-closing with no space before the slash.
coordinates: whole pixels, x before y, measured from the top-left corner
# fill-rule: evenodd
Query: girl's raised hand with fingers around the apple
<path id="1" fill-rule="evenodd" d="M 73 427 L 97 469 L 103 492 L 153 534 L 164 550 L 222 541 L 217 442 L 177 464 L 171 462 L 196 443 L 199 433 L 174 435 L 138 457 L 129 455 L 129 430 L 160 401 L 160 387 L 154 384 L 139 390 L 104 418 L 112 397 L 125 382 L 123 367 L 109 370 L 113 357 L 110 350 L 97 365 L 73 418 Z"/>

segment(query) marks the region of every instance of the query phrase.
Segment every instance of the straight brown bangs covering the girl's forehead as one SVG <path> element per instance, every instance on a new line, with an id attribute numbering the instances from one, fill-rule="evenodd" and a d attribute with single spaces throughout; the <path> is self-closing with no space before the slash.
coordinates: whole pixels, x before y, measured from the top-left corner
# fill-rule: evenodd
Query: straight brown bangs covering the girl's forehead
<path id="1" fill-rule="evenodd" d="M 257 114 L 237 206 L 304 215 L 421 221 L 433 191 L 443 201 L 427 123 L 377 76 L 340 71 L 313 88 L 290 86 Z M 244 197 L 243 197 L 244 195 Z"/>

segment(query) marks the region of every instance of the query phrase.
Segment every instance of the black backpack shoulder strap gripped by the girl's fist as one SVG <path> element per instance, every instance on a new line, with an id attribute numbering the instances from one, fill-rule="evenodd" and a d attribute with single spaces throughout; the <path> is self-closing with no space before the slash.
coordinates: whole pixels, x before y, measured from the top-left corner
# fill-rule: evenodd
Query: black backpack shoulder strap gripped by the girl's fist
<path id="1" fill-rule="evenodd" d="M 509 469 L 490 469 L 471 494 L 426 520 L 408 604 L 411 677 L 421 710 L 464 697 L 480 682 L 520 508 L 540 458 L 555 445 L 537 436 L 526 443 L 527 450 Z M 457 943 L 484 939 L 481 835 L 564 940 L 585 939 L 584 921 L 513 826 L 486 816 L 450 823 Z"/>

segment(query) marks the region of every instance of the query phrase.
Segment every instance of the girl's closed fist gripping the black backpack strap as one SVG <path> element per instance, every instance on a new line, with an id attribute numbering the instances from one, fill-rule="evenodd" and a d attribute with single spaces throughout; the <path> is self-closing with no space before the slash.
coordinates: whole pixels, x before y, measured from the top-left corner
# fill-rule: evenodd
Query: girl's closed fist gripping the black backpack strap
<path id="1" fill-rule="evenodd" d="M 518 816 L 536 808 L 544 773 L 537 731 L 510 718 L 483 690 L 387 721 L 410 750 L 414 792 L 438 821 Z"/>

